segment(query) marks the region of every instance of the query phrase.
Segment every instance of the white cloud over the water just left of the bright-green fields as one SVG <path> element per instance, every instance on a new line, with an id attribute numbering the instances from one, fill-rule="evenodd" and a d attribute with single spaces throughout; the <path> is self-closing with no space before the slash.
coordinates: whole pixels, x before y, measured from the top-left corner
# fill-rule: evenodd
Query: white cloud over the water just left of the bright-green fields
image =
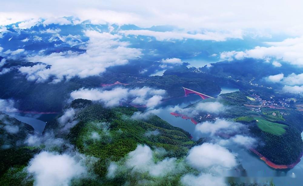
<path id="1" fill-rule="evenodd" d="M 205 121 L 196 125 L 195 131 L 199 131 L 204 134 L 215 135 L 218 132 L 225 134 L 237 133 L 241 129 L 244 129 L 245 125 L 233 121 L 227 121 L 224 119 L 217 119 L 215 122 Z"/>

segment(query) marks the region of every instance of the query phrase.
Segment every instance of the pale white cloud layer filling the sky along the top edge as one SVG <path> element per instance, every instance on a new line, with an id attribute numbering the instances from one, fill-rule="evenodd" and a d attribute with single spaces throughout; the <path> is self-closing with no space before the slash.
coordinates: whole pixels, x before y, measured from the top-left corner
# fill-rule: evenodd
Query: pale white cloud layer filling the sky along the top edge
<path id="1" fill-rule="evenodd" d="M 53 6 L 54 4 L 60 6 Z M 210 0 L 203 2 L 194 0 L 187 3 L 119 0 L 115 4 L 98 1 L 88 3 L 80 0 L 75 0 L 72 4 L 59 0 L 43 3 L 38 3 L 37 0 L 32 3 L 3 0 L 0 25 L 22 22 L 30 18 L 74 15 L 81 21 L 90 19 L 94 24 L 109 22 L 119 25 L 135 24 L 140 27 L 175 25 L 188 30 L 253 29 L 258 35 L 268 33 L 302 35 L 303 26 L 298 24 L 303 17 L 300 11 L 302 6 L 303 3 L 300 1 L 289 3 L 274 0 L 266 2 L 258 0 L 255 3 L 232 0 L 219 4 Z M 255 14 L 256 10 L 258 14 Z"/>

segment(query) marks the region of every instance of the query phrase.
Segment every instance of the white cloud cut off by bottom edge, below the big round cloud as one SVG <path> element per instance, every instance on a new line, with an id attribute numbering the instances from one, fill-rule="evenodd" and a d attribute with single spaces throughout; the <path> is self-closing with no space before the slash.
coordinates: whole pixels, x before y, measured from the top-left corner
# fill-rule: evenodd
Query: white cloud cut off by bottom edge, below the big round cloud
<path id="1" fill-rule="evenodd" d="M 181 178 L 181 182 L 188 186 L 226 186 L 223 177 L 217 177 L 211 174 L 200 174 L 198 176 L 186 174 Z"/>

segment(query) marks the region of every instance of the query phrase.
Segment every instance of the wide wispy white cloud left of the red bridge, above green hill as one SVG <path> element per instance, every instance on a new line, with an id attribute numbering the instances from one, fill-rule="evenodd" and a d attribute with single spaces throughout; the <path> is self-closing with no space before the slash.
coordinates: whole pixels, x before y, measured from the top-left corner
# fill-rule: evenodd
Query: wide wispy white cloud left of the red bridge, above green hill
<path id="1" fill-rule="evenodd" d="M 143 88 L 114 88 L 112 90 L 102 90 L 98 88 L 87 89 L 81 88 L 73 91 L 71 97 L 73 99 L 89 99 L 92 101 L 102 101 L 106 106 L 116 106 L 120 102 L 132 100 L 130 104 L 146 105 L 147 107 L 154 107 L 161 103 L 162 96 L 166 91 L 162 89 L 153 89 L 149 87 Z"/>

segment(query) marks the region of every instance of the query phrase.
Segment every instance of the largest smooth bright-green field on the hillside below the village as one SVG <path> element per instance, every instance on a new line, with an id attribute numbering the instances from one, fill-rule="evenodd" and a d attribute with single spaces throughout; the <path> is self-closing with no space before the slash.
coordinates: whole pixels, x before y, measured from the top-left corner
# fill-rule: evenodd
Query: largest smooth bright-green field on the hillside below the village
<path id="1" fill-rule="evenodd" d="M 274 123 L 271 121 L 266 121 L 261 118 L 254 118 L 257 121 L 257 126 L 264 132 L 268 132 L 273 135 L 281 136 L 283 135 L 286 130 L 285 128 L 288 128 L 287 125 L 282 125 L 279 123 Z"/>

